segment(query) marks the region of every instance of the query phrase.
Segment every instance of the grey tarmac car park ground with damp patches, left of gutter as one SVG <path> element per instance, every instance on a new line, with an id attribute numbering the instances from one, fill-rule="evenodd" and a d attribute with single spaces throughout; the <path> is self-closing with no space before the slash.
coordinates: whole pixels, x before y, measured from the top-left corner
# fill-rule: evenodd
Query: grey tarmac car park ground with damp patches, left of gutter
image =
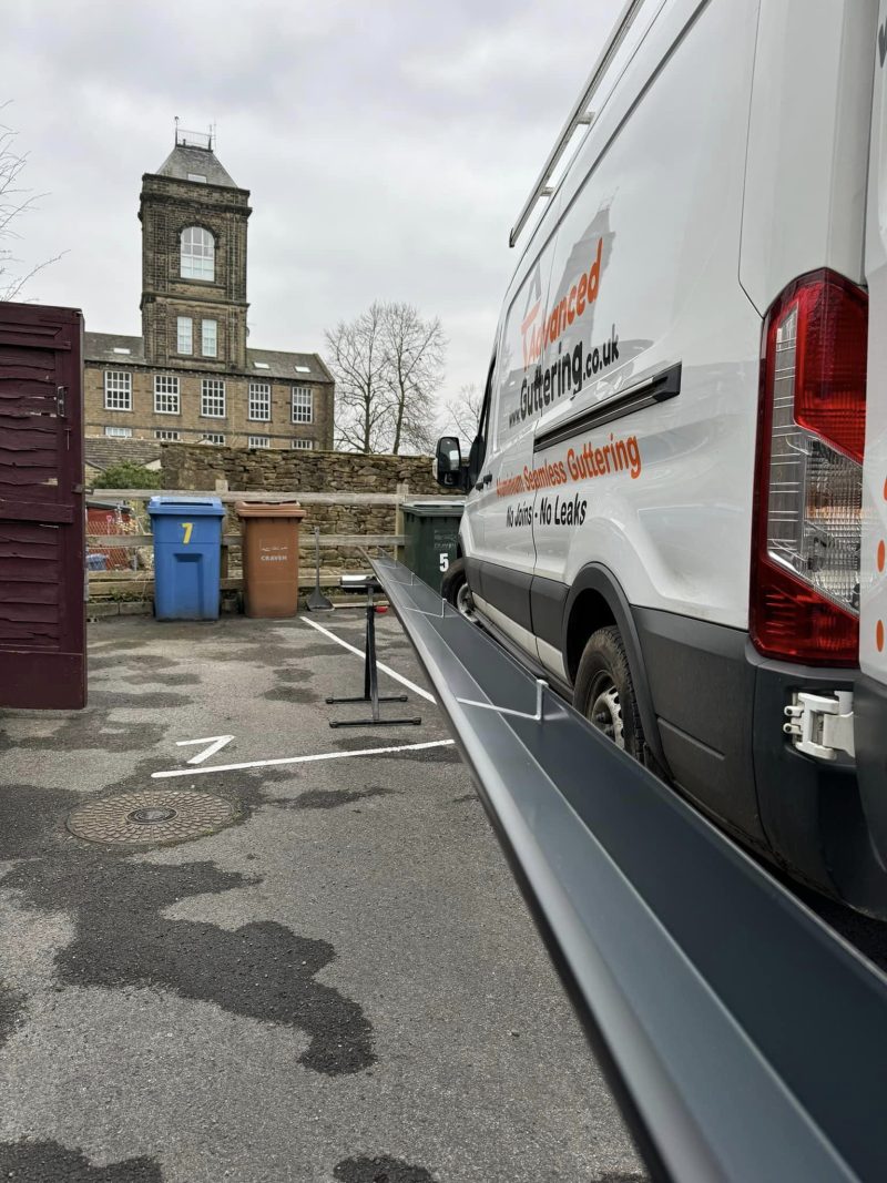
<path id="1" fill-rule="evenodd" d="M 362 649 L 360 614 L 322 623 Z M 325 702 L 363 668 L 304 619 L 101 621 L 85 711 L 0 712 L 0 1177 L 645 1178 L 412 649 L 377 625 L 410 684 L 383 674 L 409 703 L 382 710 L 421 726 L 331 730 L 365 713 Z M 176 794 L 215 799 L 203 829 L 148 817 L 132 845 L 130 804 Z M 97 801 L 97 836 L 127 841 L 69 829 Z"/>

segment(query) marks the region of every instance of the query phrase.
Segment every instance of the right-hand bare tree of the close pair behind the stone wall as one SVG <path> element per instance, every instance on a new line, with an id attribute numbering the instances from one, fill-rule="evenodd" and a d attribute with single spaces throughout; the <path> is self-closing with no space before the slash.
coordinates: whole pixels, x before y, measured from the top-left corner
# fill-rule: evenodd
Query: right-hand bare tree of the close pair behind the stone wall
<path id="1" fill-rule="evenodd" d="M 435 399 L 444 381 L 446 338 L 440 321 L 423 321 L 413 304 L 386 304 L 382 338 L 388 360 L 391 452 L 429 452 Z"/>

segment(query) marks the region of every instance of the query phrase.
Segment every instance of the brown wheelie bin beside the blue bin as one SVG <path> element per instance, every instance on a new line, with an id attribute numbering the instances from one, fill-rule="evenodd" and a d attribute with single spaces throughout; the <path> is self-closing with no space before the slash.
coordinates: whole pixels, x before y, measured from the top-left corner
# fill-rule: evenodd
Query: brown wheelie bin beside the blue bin
<path id="1" fill-rule="evenodd" d="M 294 616 L 299 606 L 298 502 L 238 502 L 244 539 L 244 603 L 247 616 Z"/>

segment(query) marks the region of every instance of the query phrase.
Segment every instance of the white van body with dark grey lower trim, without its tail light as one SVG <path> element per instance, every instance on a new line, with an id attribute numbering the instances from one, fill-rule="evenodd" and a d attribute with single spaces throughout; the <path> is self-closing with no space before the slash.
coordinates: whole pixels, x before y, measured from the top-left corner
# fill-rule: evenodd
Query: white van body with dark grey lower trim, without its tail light
<path id="1" fill-rule="evenodd" d="M 878 115 L 863 250 L 881 8 L 880 33 L 878 0 L 642 9 L 509 287 L 462 538 L 479 615 L 511 652 L 566 689 L 614 625 L 663 775 L 758 852 L 887 914 L 883 334 L 869 334 L 865 677 L 768 660 L 749 635 L 764 316 L 802 274 L 860 283 L 865 258 L 873 324 L 887 317 Z M 854 685 L 861 791 L 848 756 L 818 762 L 784 732 L 798 692 Z"/>

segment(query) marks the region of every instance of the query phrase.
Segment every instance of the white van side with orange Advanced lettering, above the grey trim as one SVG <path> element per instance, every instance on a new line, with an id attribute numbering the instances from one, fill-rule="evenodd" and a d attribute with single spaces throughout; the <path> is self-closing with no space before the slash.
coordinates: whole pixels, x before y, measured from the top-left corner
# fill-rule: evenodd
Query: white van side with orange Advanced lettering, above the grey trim
<path id="1" fill-rule="evenodd" d="M 496 392 L 498 516 L 522 523 L 512 535 L 531 529 L 537 575 L 569 587 L 594 557 L 634 605 L 734 627 L 749 610 L 760 340 L 737 279 L 756 21 L 750 0 L 662 7 L 559 190 L 545 309 L 566 315 Z M 710 90 L 726 101 L 700 102 Z M 518 274 L 532 265 L 527 252 Z M 506 329 L 505 356 L 525 344 Z M 536 438 L 684 358 L 667 405 L 529 458 L 527 424 Z M 583 448 L 613 471 L 583 477 Z"/>

